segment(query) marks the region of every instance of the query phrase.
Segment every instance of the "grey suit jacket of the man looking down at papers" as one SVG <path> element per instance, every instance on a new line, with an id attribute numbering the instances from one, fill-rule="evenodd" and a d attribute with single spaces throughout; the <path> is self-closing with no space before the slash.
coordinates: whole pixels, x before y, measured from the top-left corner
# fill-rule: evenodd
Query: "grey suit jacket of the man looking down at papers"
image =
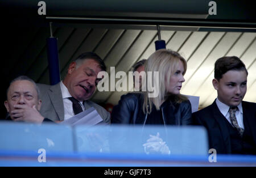
<path id="1" fill-rule="evenodd" d="M 47 84 L 37 84 L 40 90 L 40 99 L 42 100 L 42 107 L 40 113 L 43 117 L 49 118 L 52 121 L 63 121 L 64 120 L 64 104 L 62 94 L 60 90 L 60 83 L 50 86 Z M 84 101 L 85 109 L 94 107 L 99 113 L 102 122 L 110 124 L 110 113 L 106 111 L 100 105 L 93 101 Z"/>

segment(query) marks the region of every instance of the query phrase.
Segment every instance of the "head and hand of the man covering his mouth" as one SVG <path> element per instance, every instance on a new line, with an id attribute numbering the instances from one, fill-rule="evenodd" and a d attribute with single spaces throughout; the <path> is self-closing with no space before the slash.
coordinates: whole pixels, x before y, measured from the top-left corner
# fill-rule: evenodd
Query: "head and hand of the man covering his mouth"
<path id="1" fill-rule="evenodd" d="M 49 121 L 40 115 L 42 100 L 34 80 L 19 76 L 10 82 L 7 89 L 5 107 L 8 112 L 6 120 L 42 123 Z"/>

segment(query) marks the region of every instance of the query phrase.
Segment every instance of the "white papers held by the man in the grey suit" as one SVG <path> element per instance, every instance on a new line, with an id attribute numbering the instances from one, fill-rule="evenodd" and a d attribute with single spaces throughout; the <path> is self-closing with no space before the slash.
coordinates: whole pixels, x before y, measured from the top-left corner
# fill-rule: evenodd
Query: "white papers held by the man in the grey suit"
<path id="1" fill-rule="evenodd" d="M 60 122 L 61 124 L 71 125 L 71 126 L 77 126 L 77 125 L 88 125 L 93 126 L 100 122 L 102 122 L 103 119 L 98 114 L 95 108 L 91 107 L 89 109 L 86 109 L 83 112 L 80 112 L 79 114 L 68 118 L 67 120 L 64 120 L 63 122 Z"/>

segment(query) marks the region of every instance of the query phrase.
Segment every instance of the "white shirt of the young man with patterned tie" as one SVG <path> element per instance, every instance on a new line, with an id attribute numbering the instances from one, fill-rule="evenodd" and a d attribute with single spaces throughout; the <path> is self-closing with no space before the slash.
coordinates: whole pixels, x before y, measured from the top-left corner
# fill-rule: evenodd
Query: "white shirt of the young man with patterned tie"
<path id="1" fill-rule="evenodd" d="M 218 100 L 218 98 L 216 99 L 216 104 L 218 109 L 220 110 L 220 112 L 222 113 L 223 116 L 226 117 L 226 119 L 229 121 L 229 123 L 231 124 L 230 121 L 230 116 L 229 116 L 229 106 L 222 103 L 220 100 Z M 245 129 L 245 126 L 243 126 L 243 108 L 242 108 L 242 103 L 240 103 L 238 106 L 237 112 L 236 112 L 236 118 L 237 118 L 237 124 L 240 126 L 240 128 Z"/>

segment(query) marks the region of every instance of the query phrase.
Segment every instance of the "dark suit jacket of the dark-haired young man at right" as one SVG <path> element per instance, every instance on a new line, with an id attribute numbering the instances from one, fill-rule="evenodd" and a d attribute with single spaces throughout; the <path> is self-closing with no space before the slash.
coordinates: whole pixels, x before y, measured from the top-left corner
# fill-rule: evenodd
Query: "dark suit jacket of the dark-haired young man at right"
<path id="1" fill-rule="evenodd" d="M 249 123 L 251 137 L 256 144 L 256 103 L 242 101 L 243 122 Z M 208 107 L 192 114 L 195 125 L 203 125 L 208 131 L 209 148 L 216 149 L 219 154 L 231 154 L 231 143 L 225 117 L 214 101 Z"/>

